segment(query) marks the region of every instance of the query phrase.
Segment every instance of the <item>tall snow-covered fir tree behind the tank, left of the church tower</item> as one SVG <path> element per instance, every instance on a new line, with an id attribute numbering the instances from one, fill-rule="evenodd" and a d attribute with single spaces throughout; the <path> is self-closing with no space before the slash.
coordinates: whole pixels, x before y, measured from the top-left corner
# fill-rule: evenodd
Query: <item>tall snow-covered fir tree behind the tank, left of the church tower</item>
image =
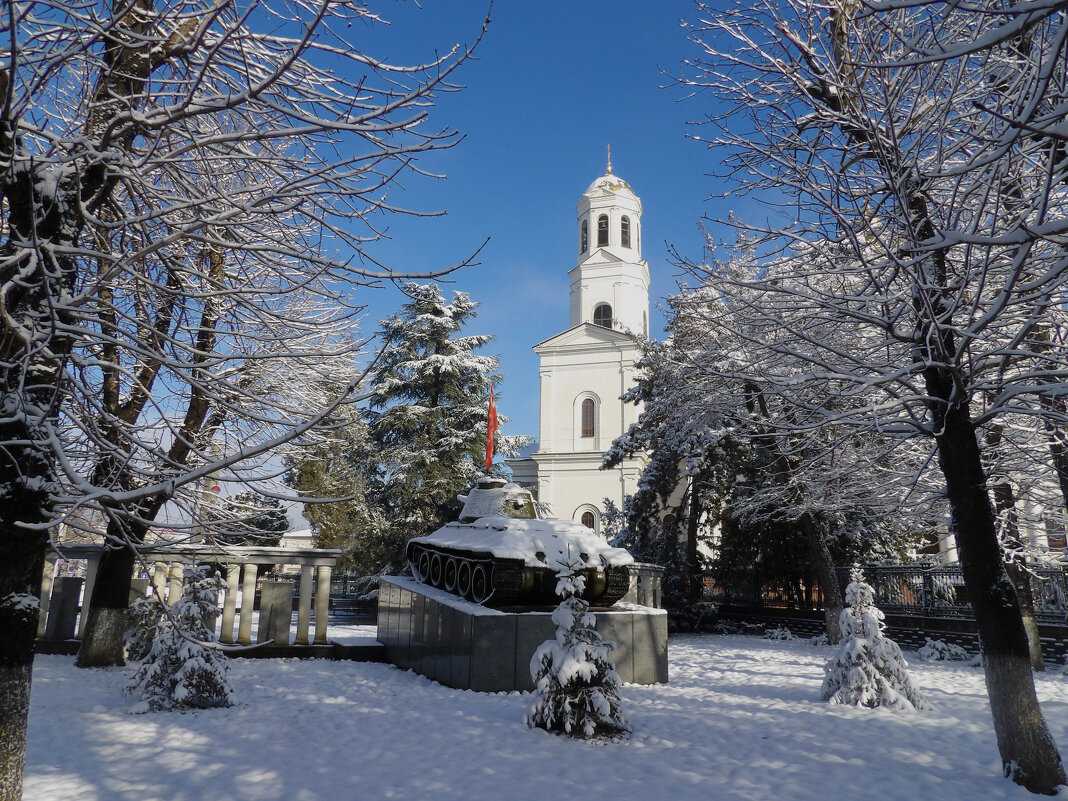
<path id="1" fill-rule="evenodd" d="M 457 493 L 484 472 L 489 391 L 500 378 L 497 357 L 475 352 L 491 337 L 460 333 L 477 303 L 461 292 L 446 301 L 433 283 L 402 288 L 408 302 L 382 321 L 388 344 L 365 413 L 380 467 L 367 503 L 382 524 L 348 549 L 367 572 L 403 565 L 409 538 L 459 512 Z M 497 443 L 505 444 L 500 435 Z"/>

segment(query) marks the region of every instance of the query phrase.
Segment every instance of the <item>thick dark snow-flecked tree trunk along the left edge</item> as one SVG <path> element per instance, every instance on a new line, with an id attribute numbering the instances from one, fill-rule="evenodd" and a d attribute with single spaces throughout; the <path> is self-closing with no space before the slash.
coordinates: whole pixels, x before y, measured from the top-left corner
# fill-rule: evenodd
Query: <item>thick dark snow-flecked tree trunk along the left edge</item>
<path id="1" fill-rule="evenodd" d="M 152 11 L 148 0 L 138 4 Z M 106 67 L 96 77 L 85 123 L 91 152 L 117 113 L 140 105 L 130 96 L 140 93 L 143 79 L 173 56 L 172 48 L 160 47 L 144 58 L 141 34 L 148 19 L 150 14 L 127 13 L 107 27 Z M 188 25 L 195 27 L 198 20 Z M 10 82 L 7 70 L 0 70 L 0 95 L 10 91 Z M 16 155 L 27 163 L 19 153 L 18 122 L 10 114 L 0 120 L 0 160 L 9 167 Z M 112 147 L 129 146 L 137 127 L 126 128 Z M 59 413 L 63 360 L 74 344 L 69 332 L 78 327 L 72 310 L 57 301 L 73 295 L 77 283 L 79 262 L 72 254 L 79 252 L 85 204 L 101 207 L 117 180 L 107 164 L 104 158 L 82 159 L 59 183 L 42 182 L 32 167 L 7 169 L 0 176 L 9 236 L 0 261 L 6 293 L 0 327 L 0 801 L 22 795 L 33 643 L 48 547 L 46 531 L 26 527 L 53 520 L 48 423 Z M 34 257 L 13 257 L 19 251 Z M 12 319 L 21 330 L 7 323 Z"/>

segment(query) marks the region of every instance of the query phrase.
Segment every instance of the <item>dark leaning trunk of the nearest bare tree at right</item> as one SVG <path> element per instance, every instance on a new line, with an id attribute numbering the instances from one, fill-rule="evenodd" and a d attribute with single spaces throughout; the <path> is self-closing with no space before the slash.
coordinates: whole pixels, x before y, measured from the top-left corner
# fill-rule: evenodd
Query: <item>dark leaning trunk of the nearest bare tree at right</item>
<path id="1" fill-rule="evenodd" d="M 948 398 L 947 388 L 931 380 L 936 371 L 927 368 L 928 389 L 944 390 L 931 395 Z M 1053 795 L 1066 784 L 1064 766 L 1035 694 L 1027 637 L 1002 560 L 975 427 L 960 406 L 932 402 L 931 409 L 960 566 L 979 629 L 1002 768 L 1032 792 Z"/>

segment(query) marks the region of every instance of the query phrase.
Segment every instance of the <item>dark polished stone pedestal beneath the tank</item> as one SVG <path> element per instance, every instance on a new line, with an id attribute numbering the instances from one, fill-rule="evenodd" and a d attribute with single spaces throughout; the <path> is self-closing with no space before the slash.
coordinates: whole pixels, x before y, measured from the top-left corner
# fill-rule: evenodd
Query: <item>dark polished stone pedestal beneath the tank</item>
<path id="1" fill-rule="evenodd" d="M 592 610 L 597 631 L 616 644 L 625 682 L 668 680 L 668 613 L 635 603 Z M 552 609 L 498 610 L 414 579 L 384 576 L 378 590 L 378 641 L 386 660 L 446 687 L 480 692 L 533 690 L 530 660 L 556 634 Z"/>

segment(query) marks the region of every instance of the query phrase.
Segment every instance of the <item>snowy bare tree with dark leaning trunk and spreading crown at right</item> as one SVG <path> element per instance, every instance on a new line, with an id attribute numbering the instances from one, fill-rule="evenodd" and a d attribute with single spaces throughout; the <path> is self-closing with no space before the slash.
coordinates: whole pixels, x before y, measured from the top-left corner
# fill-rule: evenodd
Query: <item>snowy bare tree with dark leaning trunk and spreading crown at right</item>
<path id="1" fill-rule="evenodd" d="M 785 191 L 795 211 L 760 232 L 788 257 L 743 280 L 709 273 L 727 303 L 749 303 L 744 335 L 765 345 L 750 372 L 787 402 L 806 379 L 869 397 L 866 409 L 829 407 L 836 425 L 932 438 L 1006 774 L 1052 792 L 1065 773 L 1035 695 L 977 436 L 1006 413 L 1064 422 L 1041 398 L 1068 389 L 1065 355 L 1030 346 L 1068 284 L 1068 163 L 1054 127 L 1068 26 L 1042 7 L 704 9 L 693 29 L 704 57 L 687 81 L 729 104 L 711 122 L 731 174 Z M 845 348 L 844 330 L 857 334 Z"/>

